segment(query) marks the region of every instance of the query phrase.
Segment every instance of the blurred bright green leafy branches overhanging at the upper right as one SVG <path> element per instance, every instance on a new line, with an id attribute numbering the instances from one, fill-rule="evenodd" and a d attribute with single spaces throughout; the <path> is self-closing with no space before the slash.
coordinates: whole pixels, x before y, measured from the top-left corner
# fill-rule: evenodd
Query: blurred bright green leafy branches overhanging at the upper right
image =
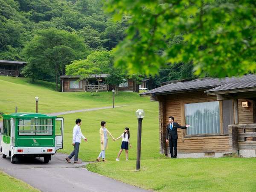
<path id="1" fill-rule="evenodd" d="M 256 72 L 254 0 L 109 0 L 106 10 L 131 16 L 116 49 L 116 64 L 131 73 L 191 61 L 201 76 Z"/>

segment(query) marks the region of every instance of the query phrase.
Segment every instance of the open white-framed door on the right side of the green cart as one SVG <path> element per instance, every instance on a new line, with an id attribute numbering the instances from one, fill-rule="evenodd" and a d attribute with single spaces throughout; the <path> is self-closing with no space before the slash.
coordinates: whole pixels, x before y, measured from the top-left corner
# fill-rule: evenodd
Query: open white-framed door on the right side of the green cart
<path id="1" fill-rule="evenodd" d="M 63 121 L 62 117 L 55 119 L 55 152 L 63 148 Z"/>

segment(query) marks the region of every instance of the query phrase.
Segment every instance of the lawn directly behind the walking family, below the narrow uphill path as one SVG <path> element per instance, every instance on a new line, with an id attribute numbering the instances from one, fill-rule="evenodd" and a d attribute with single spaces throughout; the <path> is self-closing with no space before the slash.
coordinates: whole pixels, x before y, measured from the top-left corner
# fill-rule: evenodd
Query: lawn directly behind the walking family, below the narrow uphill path
<path id="1" fill-rule="evenodd" d="M 100 152 L 99 128 L 102 120 L 107 122 L 107 128 L 113 137 L 119 137 L 125 127 L 130 128 L 130 141 L 132 148 L 129 150 L 129 159 L 136 159 L 137 147 L 137 117 L 135 111 L 144 109 L 145 118 L 143 119 L 142 131 L 142 158 L 150 159 L 159 157 L 159 136 L 158 136 L 158 103 L 149 102 L 125 106 L 122 108 L 105 109 L 99 111 L 90 111 L 83 113 L 73 113 L 63 115 L 64 117 L 64 149 L 61 152 L 70 153 L 72 146 L 72 131 L 77 118 L 82 119 L 81 131 L 88 142 L 84 141 L 80 145 L 79 157 L 86 161 L 95 161 Z M 108 150 L 106 151 L 107 160 L 115 160 L 120 149 L 122 140 L 113 141 L 109 138 Z M 121 160 L 125 159 L 125 153 L 122 154 Z"/>

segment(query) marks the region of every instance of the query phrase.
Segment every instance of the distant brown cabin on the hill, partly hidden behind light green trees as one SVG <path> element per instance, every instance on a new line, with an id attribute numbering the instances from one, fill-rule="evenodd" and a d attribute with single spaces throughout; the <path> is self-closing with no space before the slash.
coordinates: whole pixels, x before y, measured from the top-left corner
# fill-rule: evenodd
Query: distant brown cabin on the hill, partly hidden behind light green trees
<path id="1" fill-rule="evenodd" d="M 114 86 L 107 84 L 106 78 L 108 74 L 92 75 L 87 80 L 81 79 L 81 76 L 60 76 L 61 92 L 76 92 L 76 91 L 111 91 Z M 100 84 L 98 80 L 100 78 Z M 119 91 L 134 91 L 139 92 L 139 85 L 133 79 L 126 79 L 122 84 L 119 84 Z"/>

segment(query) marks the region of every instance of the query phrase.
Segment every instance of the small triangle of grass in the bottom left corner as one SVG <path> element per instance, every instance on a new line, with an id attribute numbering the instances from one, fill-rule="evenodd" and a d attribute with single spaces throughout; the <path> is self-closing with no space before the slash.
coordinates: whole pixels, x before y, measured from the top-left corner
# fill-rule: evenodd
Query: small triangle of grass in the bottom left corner
<path id="1" fill-rule="evenodd" d="M 0 171 L 0 191 L 38 192 L 39 190 Z"/>

